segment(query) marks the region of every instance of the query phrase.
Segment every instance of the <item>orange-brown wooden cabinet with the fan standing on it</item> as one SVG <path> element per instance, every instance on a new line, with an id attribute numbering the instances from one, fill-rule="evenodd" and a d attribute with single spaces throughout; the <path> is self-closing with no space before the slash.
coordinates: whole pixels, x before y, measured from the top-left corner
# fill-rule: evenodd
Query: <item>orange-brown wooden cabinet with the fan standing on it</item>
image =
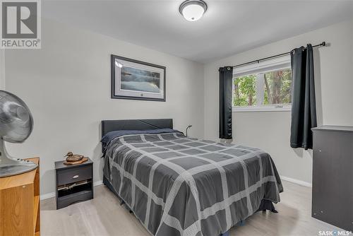
<path id="1" fill-rule="evenodd" d="M 40 158 L 36 170 L 0 178 L 0 235 L 40 235 Z"/>

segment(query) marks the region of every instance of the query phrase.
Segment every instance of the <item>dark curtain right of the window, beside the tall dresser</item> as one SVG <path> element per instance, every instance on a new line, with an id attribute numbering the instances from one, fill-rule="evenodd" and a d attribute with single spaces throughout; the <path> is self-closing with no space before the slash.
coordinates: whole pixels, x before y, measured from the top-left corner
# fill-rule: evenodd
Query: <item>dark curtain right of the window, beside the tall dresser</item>
<path id="1" fill-rule="evenodd" d="M 313 78 L 313 47 L 299 47 L 291 52 L 292 60 L 292 125 L 290 146 L 313 148 L 316 127 L 315 87 Z"/>

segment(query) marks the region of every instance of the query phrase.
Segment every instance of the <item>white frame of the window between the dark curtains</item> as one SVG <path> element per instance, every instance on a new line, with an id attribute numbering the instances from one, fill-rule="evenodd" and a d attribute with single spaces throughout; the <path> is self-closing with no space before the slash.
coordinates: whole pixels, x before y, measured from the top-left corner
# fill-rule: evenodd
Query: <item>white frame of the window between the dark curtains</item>
<path id="1" fill-rule="evenodd" d="M 276 57 L 266 61 L 261 61 L 256 64 L 249 64 L 241 66 L 233 70 L 233 78 L 239 76 L 246 76 L 249 74 L 265 73 L 269 71 L 276 71 L 280 69 L 290 69 L 290 56 L 286 55 L 283 57 Z M 256 92 L 258 92 L 256 90 Z M 234 83 L 232 83 L 232 112 L 290 112 L 292 111 L 292 103 L 290 104 L 273 104 L 273 105 L 255 105 L 255 106 L 234 106 L 233 105 L 234 95 Z"/>

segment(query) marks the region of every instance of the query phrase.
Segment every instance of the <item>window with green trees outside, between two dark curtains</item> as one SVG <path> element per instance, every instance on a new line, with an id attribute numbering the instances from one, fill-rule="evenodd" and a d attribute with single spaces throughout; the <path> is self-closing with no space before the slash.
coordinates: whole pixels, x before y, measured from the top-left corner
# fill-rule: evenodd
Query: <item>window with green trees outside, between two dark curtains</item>
<path id="1" fill-rule="evenodd" d="M 290 110 L 291 100 L 292 71 L 289 57 L 234 69 L 235 112 Z"/>

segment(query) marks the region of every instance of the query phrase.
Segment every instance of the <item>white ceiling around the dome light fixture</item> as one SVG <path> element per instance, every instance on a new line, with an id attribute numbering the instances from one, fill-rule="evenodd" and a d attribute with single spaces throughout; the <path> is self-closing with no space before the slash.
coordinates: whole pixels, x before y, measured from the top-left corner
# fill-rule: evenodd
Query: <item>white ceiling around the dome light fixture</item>
<path id="1" fill-rule="evenodd" d="M 353 1 L 205 1 L 195 22 L 180 15 L 182 0 L 44 0 L 42 15 L 201 63 L 353 17 Z"/>

